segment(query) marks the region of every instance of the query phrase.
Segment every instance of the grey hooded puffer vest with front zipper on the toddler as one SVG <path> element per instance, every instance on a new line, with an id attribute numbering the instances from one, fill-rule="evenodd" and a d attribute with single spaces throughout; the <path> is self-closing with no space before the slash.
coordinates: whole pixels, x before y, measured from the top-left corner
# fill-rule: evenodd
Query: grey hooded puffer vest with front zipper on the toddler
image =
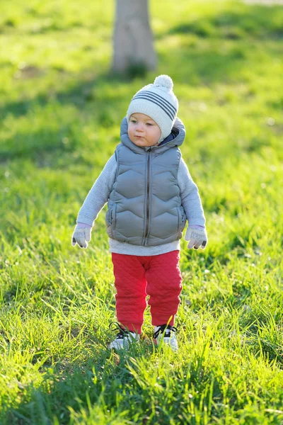
<path id="1" fill-rule="evenodd" d="M 173 140 L 153 147 L 134 145 L 127 128 L 124 118 L 106 213 L 108 235 L 133 245 L 168 244 L 182 237 L 186 222 L 177 177 L 185 127 L 176 118 Z"/>

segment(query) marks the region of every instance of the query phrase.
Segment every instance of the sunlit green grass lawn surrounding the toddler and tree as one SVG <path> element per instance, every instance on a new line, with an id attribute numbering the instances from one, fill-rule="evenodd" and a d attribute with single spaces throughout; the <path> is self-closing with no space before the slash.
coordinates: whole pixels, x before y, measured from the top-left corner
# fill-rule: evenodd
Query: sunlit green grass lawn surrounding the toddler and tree
<path id="1" fill-rule="evenodd" d="M 151 1 L 158 70 L 110 77 L 113 4 L 1 5 L 0 423 L 283 424 L 280 6 Z M 170 16 L 170 19 L 168 19 Z M 77 212 L 129 100 L 170 74 L 209 245 L 183 241 L 180 351 L 105 348 L 115 289 L 100 213 Z"/>

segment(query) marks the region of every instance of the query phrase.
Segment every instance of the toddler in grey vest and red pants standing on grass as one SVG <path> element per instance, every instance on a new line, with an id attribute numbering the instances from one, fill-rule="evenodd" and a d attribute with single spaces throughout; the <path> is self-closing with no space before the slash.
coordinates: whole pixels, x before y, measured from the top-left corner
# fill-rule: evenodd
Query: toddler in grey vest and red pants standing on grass
<path id="1" fill-rule="evenodd" d="M 207 244 L 198 189 L 182 159 L 185 128 L 167 75 L 137 92 L 122 120 L 121 143 L 84 201 L 72 245 L 86 248 L 98 213 L 106 225 L 115 276 L 117 335 L 108 346 L 139 340 L 149 295 L 154 342 L 178 349 L 175 314 L 182 289 L 180 238 L 188 248 Z"/>

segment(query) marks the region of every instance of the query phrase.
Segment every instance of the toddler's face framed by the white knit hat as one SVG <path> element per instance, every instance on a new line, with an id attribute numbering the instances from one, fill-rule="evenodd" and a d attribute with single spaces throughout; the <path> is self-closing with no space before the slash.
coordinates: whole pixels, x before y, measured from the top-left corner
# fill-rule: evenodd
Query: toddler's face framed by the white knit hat
<path id="1" fill-rule="evenodd" d="M 129 139 L 137 146 L 158 145 L 161 130 L 152 118 L 144 113 L 133 113 L 129 118 Z"/>

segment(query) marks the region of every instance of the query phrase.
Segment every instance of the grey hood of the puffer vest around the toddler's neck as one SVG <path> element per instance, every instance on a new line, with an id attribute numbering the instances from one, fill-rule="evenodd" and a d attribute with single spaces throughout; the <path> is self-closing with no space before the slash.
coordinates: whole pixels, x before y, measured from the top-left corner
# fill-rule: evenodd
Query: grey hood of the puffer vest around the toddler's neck
<path id="1" fill-rule="evenodd" d="M 131 140 L 129 140 L 127 117 L 123 118 L 122 120 L 120 137 L 121 137 L 122 144 L 126 145 L 127 147 L 129 147 L 129 149 L 132 149 L 134 152 L 141 153 L 141 152 L 149 150 L 150 148 L 150 146 L 139 147 L 137 145 L 134 145 L 134 143 Z M 151 146 L 151 149 L 155 150 L 157 154 L 171 147 L 182 145 L 184 139 L 185 139 L 185 125 L 183 125 L 182 121 L 179 118 L 176 118 L 173 124 L 173 128 L 171 130 L 171 134 L 168 135 L 168 137 L 166 137 L 166 139 L 164 139 L 160 145 Z"/>

